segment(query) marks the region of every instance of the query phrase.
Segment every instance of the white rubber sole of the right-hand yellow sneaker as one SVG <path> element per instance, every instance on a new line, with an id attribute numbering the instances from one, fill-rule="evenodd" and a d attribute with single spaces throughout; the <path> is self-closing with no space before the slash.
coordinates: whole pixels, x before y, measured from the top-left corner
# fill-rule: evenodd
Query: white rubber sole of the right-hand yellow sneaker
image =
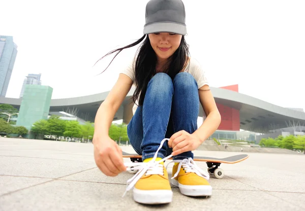
<path id="1" fill-rule="evenodd" d="M 179 187 L 180 193 L 186 196 L 211 196 L 211 186 L 186 186 L 180 184 L 176 179 L 171 179 L 173 186 Z"/>

